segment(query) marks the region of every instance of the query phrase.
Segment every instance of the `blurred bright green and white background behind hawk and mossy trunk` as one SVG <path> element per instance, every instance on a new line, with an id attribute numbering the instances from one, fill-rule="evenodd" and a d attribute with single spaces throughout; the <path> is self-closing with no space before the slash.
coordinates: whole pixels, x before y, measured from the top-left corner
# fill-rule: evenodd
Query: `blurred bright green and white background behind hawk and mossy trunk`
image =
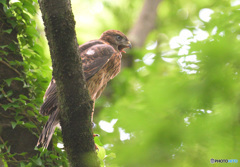
<path id="1" fill-rule="evenodd" d="M 34 5 L 41 64 L 31 69 L 42 78 L 34 75 L 32 83 L 41 86 L 34 95 L 37 114 L 51 80 L 51 59 Z M 102 166 L 240 161 L 239 0 L 72 0 L 72 8 L 79 44 L 109 29 L 122 31 L 133 44 L 121 72 L 96 101 L 94 133 L 100 134 L 95 142 Z M 37 117 L 40 125 L 47 120 Z M 64 152 L 61 143 L 57 130 L 58 155 Z M 48 153 L 33 158 L 32 165 L 43 165 L 43 154 Z"/>

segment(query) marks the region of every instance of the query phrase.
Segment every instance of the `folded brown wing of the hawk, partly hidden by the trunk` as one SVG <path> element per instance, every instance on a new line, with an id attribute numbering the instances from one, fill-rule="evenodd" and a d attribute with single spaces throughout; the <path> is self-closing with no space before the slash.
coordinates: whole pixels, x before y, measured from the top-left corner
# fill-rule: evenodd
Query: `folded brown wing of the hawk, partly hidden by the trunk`
<path id="1" fill-rule="evenodd" d="M 90 41 L 79 47 L 82 59 L 83 72 L 86 81 L 96 74 L 116 53 L 114 48 L 101 41 Z M 40 108 L 40 114 L 50 115 L 57 109 L 57 87 L 55 80 L 52 79 L 44 95 L 44 103 Z"/>

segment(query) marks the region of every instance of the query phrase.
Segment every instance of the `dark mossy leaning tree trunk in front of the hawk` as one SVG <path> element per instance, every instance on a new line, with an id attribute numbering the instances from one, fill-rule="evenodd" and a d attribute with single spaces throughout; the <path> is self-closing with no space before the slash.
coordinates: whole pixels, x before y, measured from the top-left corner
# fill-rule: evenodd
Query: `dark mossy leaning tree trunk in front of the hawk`
<path id="1" fill-rule="evenodd" d="M 70 0 L 39 0 L 61 109 L 64 148 L 72 167 L 99 166 L 92 100 L 83 76 Z"/>

